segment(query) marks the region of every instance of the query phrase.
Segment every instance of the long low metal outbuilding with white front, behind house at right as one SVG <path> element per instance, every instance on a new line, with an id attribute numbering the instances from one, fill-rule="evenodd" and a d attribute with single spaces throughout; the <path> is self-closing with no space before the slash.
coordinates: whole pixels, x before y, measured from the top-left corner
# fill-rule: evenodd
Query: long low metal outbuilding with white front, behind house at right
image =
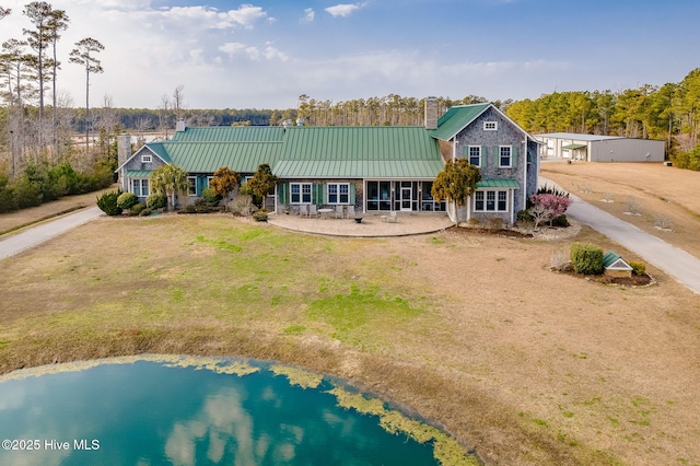
<path id="1" fill-rule="evenodd" d="M 586 162 L 663 162 L 665 142 L 619 136 L 549 132 L 535 135 L 542 142 L 544 159 L 569 159 Z"/>

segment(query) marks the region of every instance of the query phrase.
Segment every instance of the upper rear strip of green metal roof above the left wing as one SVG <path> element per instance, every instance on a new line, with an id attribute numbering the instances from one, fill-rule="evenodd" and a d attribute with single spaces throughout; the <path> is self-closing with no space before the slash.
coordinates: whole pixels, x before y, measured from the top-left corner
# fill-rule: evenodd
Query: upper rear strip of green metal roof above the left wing
<path id="1" fill-rule="evenodd" d="M 278 126 L 212 126 L 175 131 L 178 142 L 281 142 L 284 128 Z"/>

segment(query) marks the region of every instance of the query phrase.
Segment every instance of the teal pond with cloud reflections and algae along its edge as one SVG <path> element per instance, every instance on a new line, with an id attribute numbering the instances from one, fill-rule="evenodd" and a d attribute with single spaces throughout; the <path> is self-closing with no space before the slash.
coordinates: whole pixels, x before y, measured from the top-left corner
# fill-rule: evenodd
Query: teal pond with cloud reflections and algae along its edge
<path id="1" fill-rule="evenodd" d="M 396 419 L 419 422 L 390 421 L 394 411 L 378 400 L 368 403 L 380 415 L 341 407 L 345 395 L 368 400 L 316 374 L 234 359 L 121 358 L 18 371 L 0 377 L 0 464 L 439 464 L 440 435 L 419 443 L 390 428 Z"/>

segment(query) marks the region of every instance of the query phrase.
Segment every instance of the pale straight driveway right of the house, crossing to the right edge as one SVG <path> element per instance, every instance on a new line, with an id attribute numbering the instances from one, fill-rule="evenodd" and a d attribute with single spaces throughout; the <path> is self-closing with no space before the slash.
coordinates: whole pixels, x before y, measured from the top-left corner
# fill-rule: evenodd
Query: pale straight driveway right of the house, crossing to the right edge
<path id="1" fill-rule="evenodd" d="M 539 179 L 540 184 L 556 185 L 549 179 Z M 573 195 L 571 198 L 573 202 L 567 210 L 567 215 L 633 251 L 649 264 L 700 294 L 700 259 Z"/>

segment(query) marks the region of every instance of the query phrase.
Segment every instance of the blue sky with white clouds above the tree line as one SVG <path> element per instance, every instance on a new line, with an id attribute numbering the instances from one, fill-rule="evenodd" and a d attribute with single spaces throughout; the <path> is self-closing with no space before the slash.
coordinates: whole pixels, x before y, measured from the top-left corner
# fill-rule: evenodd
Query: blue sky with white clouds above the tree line
<path id="1" fill-rule="evenodd" d="M 247 1 L 247 0 L 246 0 Z M 31 27 L 28 1 L 0 40 Z M 188 108 L 288 108 L 392 93 L 489 100 L 679 82 L 700 67 L 698 0 L 60 0 L 58 93 L 84 102 L 73 44 L 98 39 L 91 106 L 156 108 L 183 85 Z"/>

